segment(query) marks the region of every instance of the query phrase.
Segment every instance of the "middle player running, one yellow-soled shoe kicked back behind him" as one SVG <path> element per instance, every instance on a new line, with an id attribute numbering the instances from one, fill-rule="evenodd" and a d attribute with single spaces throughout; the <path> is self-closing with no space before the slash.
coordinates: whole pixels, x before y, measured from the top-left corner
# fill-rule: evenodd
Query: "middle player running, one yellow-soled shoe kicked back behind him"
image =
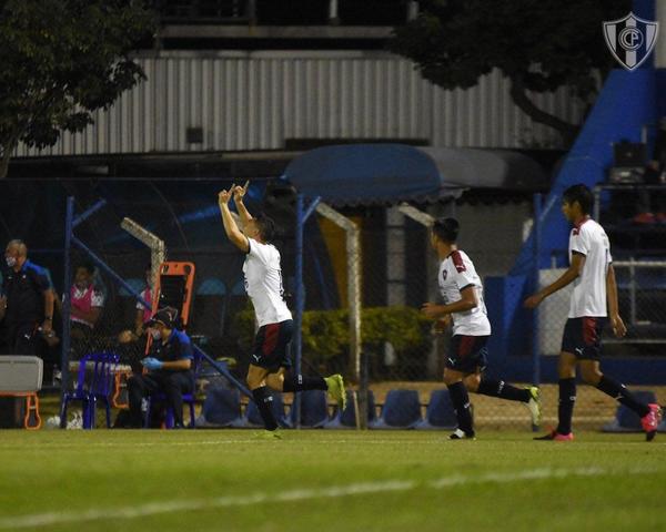
<path id="1" fill-rule="evenodd" d="M 426 303 L 422 313 L 438 320 L 438 326 L 453 318 L 451 354 L 446 358 L 444 382 L 457 416 L 458 427 L 452 440 L 474 439 L 474 423 L 468 391 L 522 401 L 529 409 L 532 423 L 541 422 L 539 390 L 535 386 L 517 388 L 483 375 L 486 368 L 486 344 L 491 323 L 483 300 L 483 285 L 467 254 L 456 246 L 460 225 L 454 218 L 435 221 L 431 244 L 442 260 L 437 280 L 445 305 Z"/>

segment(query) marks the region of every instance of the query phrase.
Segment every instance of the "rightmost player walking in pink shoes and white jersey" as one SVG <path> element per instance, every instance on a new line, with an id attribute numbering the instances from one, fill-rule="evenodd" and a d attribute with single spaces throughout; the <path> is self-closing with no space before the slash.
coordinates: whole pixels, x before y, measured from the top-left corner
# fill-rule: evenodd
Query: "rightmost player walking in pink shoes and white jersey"
<path id="1" fill-rule="evenodd" d="M 608 236 L 604 228 L 589 217 L 593 204 L 594 196 L 585 185 L 574 185 L 564 191 L 562 212 L 566 219 L 574 224 L 569 236 L 571 266 L 555 283 L 525 300 L 527 308 L 535 308 L 551 294 L 574 283 L 557 365 L 558 424 L 551 433 L 536 439 L 556 441 L 574 439 L 572 416 L 576 401 L 576 367 L 578 366 L 585 382 L 617 399 L 640 417 L 646 439 L 650 441 L 657 432 L 662 418 L 659 406 L 639 402 L 624 385 L 606 377 L 599 369 L 602 328 L 608 315 L 616 337 L 622 338 L 627 329 L 618 313 L 617 285 Z"/>

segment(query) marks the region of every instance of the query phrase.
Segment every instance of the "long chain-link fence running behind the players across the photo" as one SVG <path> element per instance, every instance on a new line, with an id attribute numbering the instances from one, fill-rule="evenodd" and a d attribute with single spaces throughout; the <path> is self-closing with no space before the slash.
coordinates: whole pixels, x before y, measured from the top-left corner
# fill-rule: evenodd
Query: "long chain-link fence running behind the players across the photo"
<path id="1" fill-rule="evenodd" d="M 162 238 L 170 260 L 194 263 L 196 275 L 188 332 L 213 358 L 223 358 L 232 375 L 243 381 L 254 317 L 242 280 L 244 257 L 229 244 L 216 205 L 218 191 L 230 184 L 193 181 L 185 186 L 175 181 L 111 180 L 6 182 L 0 200 L 4 236 L 7 241 L 20 237 L 27 242 L 30 258 L 49 269 L 62 299 L 67 197 L 75 197 L 78 215 L 103 198 L 105 204 L 74 228 L 77 238 L 139 294 L 151 280 L 148 275 L 151 252 L 121 227 L 123 218 L 132 218 Z M 282 255 L 285 297 L 295 315 L 296 207 L 294 192 L 284 191 L 278 194 L 266 182 L 258 181 L 252 184 L 246 203 L 254 213 L 266 212 L 280 227 L 275 244 Z M 17 197 L 22 197 L 22 203 L 16 202 Z M 568 295 L 562 290 L 547 298 L 537 313 L 532 313 L 522 307 L 522 301 L 533 291 L 534 280 L 507 275 L 529 227 L 531 198 L 474 201 L 473 196 L 466 196 L 463 201 L 413 207 L 431 218 L 454 216 L 460 221 L 458 247 L 471 257 L 484 283 L 493 327 L 486 375 L 517 387 L 528 386 L 535 376 L 537 379 L 541 376 L 545 381 L 542 386 L 545 422 L 553 423 L 557 409 L 555 368 Z M 350 226 L 359 231 L 352 238 Z M 132 367 L 138 369 L 145 348 L 142 324 L 148 314 L 138 307 L 124 284 L 91 260 L 90 253 L 71 246 L 69 254 L 71 297 L 72 301 L 74 296 L 80 300 L 80 311 L 72 313 L 72 318 L 78 314 L 78 320 L 72 323 L 71 350 L 65 354 L 69 367 L 75 371 L 84 354 L 113 350 L 121 355 L 127 371 Z M 424 303 L 441 303 L 438 259 L 424 221 L 406 215 L 397 206 L 341 207 L 326 212 L 320 205 L 304 225 L 302 254 L 302 372 L 322 376 L 341 372 L 351 390 L 364 390 L 350 396 L 353 400 L 342 416 L 330 401 L 323 424 L 350 428 L 363 424 L 361 416 L 366 410 L 371 427 L 455 426 L 451 402 L 442 395 L 451 330 L 433 332 L 433 323 L 421 313 Z M 620 371 L 617 378 L 629 385 L 639 371 L 637 368 L 645 367 L 640 364 L 646 357 L 663 357 L 665 267 L 658 259 L 615 263 L 620 311 L 629 334 L 622 340 L 605 338 L 604 352 L 609 367 Z M 539 283 L 549 283 L 561 273 L 541 270 Z M 56 334 L 61 338 L 58 323 L 57 316 Z M 354 328 L 359 323 L 360 349 L 355 349 Z M 48 366 L 61 366 L 61 345 L 44 342 L 40 349 Z M 535 352 L 541 362 L 537 372 Z M 625 371 L 628 367 L 633 369 Z M 229 387 L 210 368 L 202 375 L 201 401 L 206 397 L 208 383 Z M 659 383 L 657 377 L 653 381 Z M 51 378 L 47 370 L 47 381 Z M 659 388 L 650 389 L 657 399 L 663 399 Z M 613 419 L 616 403 L 610 398 L 585 388 L 579 390 L 578 398 L 574 418 L 577 426 L 598 429 Z M 123 402 L 122 397 L 117 399 Z M 321 426 L 312 422 L 310 398 L 303 395 L 302 399 L 305 401 L 302 424 Z M 242 417 L 248 399 L 241 395 L 240 402 Z M 293 398 L 285 395 L 286 419 L 292 402 Z M 521 401 L 472 395 L 472 402 L 478 427 L 529 428 L 529 413 Z"/>

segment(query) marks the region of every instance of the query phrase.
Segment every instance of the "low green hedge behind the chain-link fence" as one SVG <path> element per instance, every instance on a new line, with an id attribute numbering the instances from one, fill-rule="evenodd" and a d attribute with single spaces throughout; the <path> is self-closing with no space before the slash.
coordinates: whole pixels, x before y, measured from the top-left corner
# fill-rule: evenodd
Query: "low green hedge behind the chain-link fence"
<path id="1" fill-rule="evenodd" d="M 364 308 L 361 337 L 366 349 L 376 350 L 389 341 L 400 354 L 425 349 L 432 321 L 410 307 Z M 254 338 L 254 314 L 244 310 L 234 318 L 234 330 L 243 349 Z M 303 313 L 303 356 L 324 361 L 345 355 L 350 348 L 347 310 L 309 310 Z"/>

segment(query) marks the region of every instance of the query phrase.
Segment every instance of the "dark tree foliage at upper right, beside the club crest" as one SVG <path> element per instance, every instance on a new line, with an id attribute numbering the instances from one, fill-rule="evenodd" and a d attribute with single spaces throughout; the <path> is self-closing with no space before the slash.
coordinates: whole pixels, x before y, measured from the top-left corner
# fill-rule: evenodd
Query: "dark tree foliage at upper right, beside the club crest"
<path id="1" fill-rule="evenodd" d="M 498 69 L 523 111 L 571 133 L 573 124 L 535 108 L 527 91 L 569 86 L 578 98 L 594 96 L 595 71 L 613 66 L 602 22 L 630 8 L 629 0 L 423 0 L 418 18 L 395 29 L 390 49 L 444 89 L 474 86 Z"/>

